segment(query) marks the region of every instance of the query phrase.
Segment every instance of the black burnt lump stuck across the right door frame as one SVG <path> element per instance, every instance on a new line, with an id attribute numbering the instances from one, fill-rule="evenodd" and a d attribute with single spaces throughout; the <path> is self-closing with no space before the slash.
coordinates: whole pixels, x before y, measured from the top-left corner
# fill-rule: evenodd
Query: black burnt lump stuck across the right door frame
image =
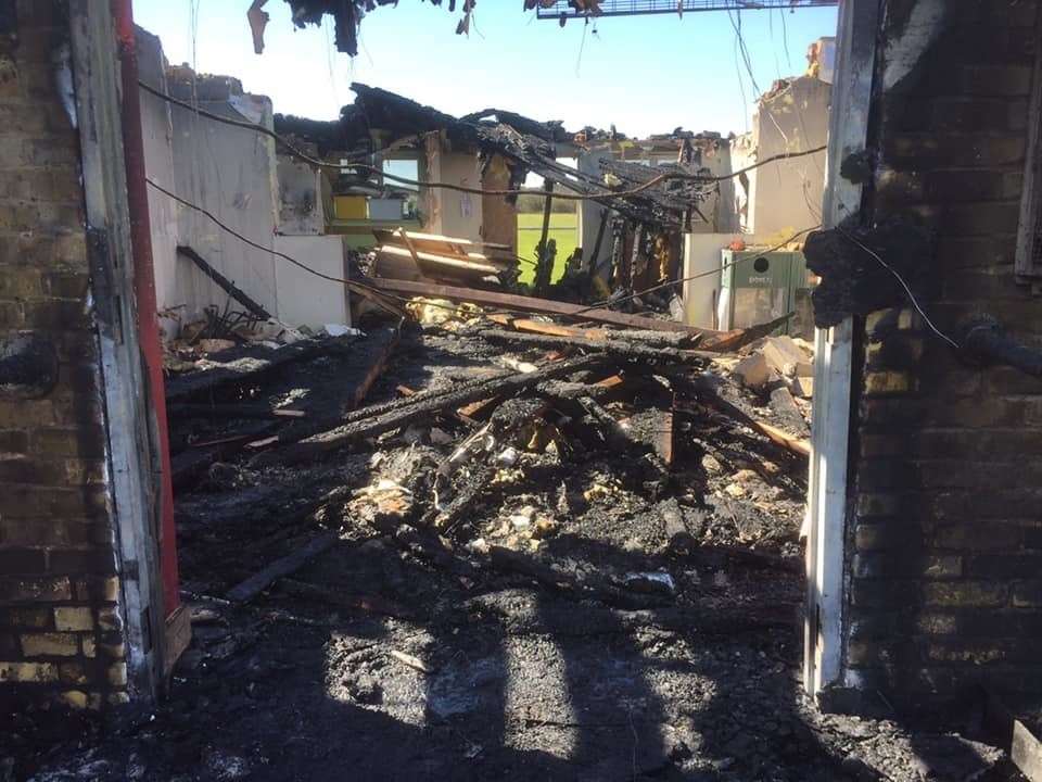
<path id="1" fill-rule="evenodd" d="M 806 238 L 806 266 L 821 277 L 814 289 L 814 324 L 836 326 L 850 315 L 904 305 L 908 294 L 929 300 L 936 293 L 932 235 L 897 218 L 873 228 L 846 220 Z"/>

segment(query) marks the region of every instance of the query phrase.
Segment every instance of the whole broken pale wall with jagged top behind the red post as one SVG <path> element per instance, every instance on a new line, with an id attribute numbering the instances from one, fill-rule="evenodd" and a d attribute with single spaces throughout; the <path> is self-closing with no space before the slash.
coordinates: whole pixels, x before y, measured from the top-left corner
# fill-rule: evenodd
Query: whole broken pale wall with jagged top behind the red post
<path id="1" fill-rule="evenodd" d="M 272 127 L 271 102 L 242 92 L 225 76 L 196 76 L 167 68 L 161 40 L 137 30 L 141 80 L 153 89 L 238 122 Z M 344 238 L 326 235 L 322 175 L 276 155 L 275 142 L 247 128 L 201 116 L 141 91 L 141 125 L 149 178 L 201 206 L 251 247 L 205 215 L 149 189 L 156 302 L 164 339 L 202 319 L 207 306 L 223 311 L 228 295 L 187 257 L 190 247 L 274 317 L 290 326 L 350 324 L 346 289 L 271 254 L 282 252 L 308 268 L 345 278 Z M 234 305 L 234 308 L 239 308 Z"/>

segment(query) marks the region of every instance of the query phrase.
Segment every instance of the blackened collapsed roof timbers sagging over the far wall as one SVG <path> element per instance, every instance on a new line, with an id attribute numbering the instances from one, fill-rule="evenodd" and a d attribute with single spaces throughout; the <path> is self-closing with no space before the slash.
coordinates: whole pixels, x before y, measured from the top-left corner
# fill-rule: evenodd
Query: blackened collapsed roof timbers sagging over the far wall
<path id="1" fill-rule="evenodd" d="M 419 146 L 421 136 L 442 131 L 454 146 L 475 148 L 485 165 L 494 153 L 510 161 L 511 189 L 533 172 L 544 179 L 610 206 L 637 222 L 677 228 L 688 225 L 690 213 L 706 222 L 698 209 L 715 190 L 715 185 L 672 179 L 625 198 L 613 190 L 644 185 L 664 172 L 682 174 L 694 169 L 677 166 L 651 169 L 647 166 L 623 164 L 605 160 L 600 163 L 605 178 L 598 178 L 563 165 L 557 161 L 558 144 L 571 142 L 575 135 L 563 129 L 559 122 L 537 122 L 513 112 L 486 109 L 455 117 L 378 87 L 354 83 L 355 102 L 341 109 L 339 121 L 318 122 L 277 114 L 276 130 L 318 144 L 320 152 L 350 151 L 368 154 L 380 151 L 374 147 L 374 131 L 380 136 L 381 149 L 391 146 Z M 580 136 L 580 139 L 583 137 Z M 697 163 L 697 152 L 689 139 L 681 142 L 681 155 Z M 614 187 L 609 187 L 610 181 Z"/>

